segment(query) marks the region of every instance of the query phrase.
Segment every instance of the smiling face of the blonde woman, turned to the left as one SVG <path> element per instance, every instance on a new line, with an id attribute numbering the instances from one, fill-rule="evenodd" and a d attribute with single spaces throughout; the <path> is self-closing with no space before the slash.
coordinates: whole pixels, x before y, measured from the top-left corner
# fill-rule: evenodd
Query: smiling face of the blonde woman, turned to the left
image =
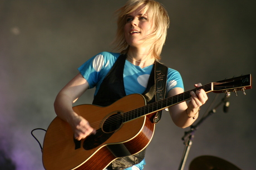
<path id="1" fill-rule="evenodd" d="M 145 4 L 137 8 L 134 12 L 127 14 L 126 17 L 124 27 L 125 40 L 131 47 L 148 45 L 143 38 L 152 33 L 152 22 L 148 20 L 147 13 L 143 14 L 144 10 L 141 10 L 144 6 Z"/>

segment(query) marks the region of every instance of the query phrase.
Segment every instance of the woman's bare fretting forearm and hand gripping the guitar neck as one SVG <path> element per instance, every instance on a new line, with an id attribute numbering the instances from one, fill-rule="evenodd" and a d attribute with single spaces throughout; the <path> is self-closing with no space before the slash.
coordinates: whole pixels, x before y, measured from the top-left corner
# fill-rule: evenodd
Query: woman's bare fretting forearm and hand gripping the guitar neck
<path id="1" fill-rule="evenodd" d="M 195 87 L 200 86 L 200 83 L 195 84 Z M 182 88 L 175 87 L 168 92 L 168 97 L 181 94 L 182 92 L 184 92 Z M 176 126 L 181 128 L 192 125 L 192 123 L 198 118 L 200 106 L 205 104 L 206 100 L 208 100 L 208 96 L 204 89 L 197 90 L 196 92 L 191 91 L 190 95 L 191 98 L 188 105 L 184 101 L 178 105 L 169 107 L 171 119 Z"/>

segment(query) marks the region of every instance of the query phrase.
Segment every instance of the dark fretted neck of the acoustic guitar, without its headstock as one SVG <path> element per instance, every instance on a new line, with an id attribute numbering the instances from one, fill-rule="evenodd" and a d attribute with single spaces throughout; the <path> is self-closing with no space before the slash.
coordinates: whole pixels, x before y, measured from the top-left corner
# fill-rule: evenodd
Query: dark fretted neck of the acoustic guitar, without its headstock
<path id="1" fill-rule="evenodd" d="M 122 118 L 123 119 L 122 122 L 131 121 L 131 120 L 137 119 L 138 117 L 149 115 L 154 112 L 164 110 L 170 106 L 174 106 L 181 102 L 187 101 L 191 97 L 190 92 L 191 91 L 195 92 L 196 90 L 199 90 L 199 89 L 204 89 L 204 91 L 206 93 L 211 92 L 211 91 L 213 91 L 213 83 L 209 83 L 204 86 L 200 86 L 198 88 L 195 88 L 195 89 L 192 89 L 189 91 L 185 91 L 181 94 L 171 96 L 171 97 L 165 98 L 163 100 L 156 101 L 151 104 L 139 107 L 137 109 L 125 112 L 124 116 Z"/>

